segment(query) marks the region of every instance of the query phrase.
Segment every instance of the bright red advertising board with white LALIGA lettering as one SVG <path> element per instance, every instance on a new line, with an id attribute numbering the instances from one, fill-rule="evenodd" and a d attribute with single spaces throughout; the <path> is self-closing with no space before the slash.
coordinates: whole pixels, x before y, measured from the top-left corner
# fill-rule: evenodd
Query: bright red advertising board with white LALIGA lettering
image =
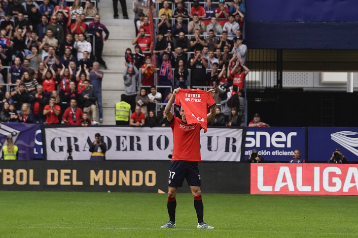
<path id="1" fill-rule="evenodd" d="M 358 195 L 358 165 L 252 163 L 251 194 Z"/>

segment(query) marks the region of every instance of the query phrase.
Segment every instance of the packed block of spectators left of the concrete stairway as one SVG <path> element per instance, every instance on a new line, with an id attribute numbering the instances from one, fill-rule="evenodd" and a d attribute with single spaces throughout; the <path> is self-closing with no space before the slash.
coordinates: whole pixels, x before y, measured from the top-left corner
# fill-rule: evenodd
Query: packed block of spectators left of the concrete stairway
<path id="1" fill-rule="evenodd" d="M 40 4 L 41 3 L 41 4 Z M 109 31 L 95 0 L 1 1 L 0 121 L 103 121 L 100 65 Z M 90 87 L 92 85 L 92 87 Z"/>

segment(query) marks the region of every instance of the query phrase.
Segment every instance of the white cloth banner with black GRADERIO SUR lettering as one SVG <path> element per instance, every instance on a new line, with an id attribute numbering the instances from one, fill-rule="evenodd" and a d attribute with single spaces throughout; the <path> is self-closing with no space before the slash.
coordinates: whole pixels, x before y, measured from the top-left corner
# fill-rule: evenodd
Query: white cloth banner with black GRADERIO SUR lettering
<path id="1" fill-rule="evenodd" d="M 45 127 L 47 160 L 65 160 L 72 147 L 73 160 L 89 160 L 90 145 L 100 133 L 107 144 L 107 160 L 170 160 L 170 127 Z M 203 161 L 240 161 L 243 129 L 201 130 Z"/>

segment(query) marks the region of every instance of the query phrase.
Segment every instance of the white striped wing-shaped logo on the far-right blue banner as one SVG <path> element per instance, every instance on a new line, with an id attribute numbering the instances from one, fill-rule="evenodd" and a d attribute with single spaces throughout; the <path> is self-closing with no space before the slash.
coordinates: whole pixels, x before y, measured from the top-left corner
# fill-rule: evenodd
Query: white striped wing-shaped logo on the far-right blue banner
<path id="1" fill-rule="evenodd" d="M 331 134 L 331 140 L 358 156 L 358 132 L 339 131 Z"/>

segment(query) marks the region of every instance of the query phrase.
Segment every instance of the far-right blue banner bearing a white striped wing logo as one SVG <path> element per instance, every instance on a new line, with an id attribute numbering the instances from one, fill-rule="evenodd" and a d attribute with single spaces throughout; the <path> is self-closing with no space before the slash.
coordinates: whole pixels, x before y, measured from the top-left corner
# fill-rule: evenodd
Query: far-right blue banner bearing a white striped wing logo
<path id="1" fill-rule="evenodd" d="M 310 161 L 325 161 L 335 149 L 347 158 L 347 162 L 358 162 L 357 127 L 308 127 L 308 154 Z"/>

